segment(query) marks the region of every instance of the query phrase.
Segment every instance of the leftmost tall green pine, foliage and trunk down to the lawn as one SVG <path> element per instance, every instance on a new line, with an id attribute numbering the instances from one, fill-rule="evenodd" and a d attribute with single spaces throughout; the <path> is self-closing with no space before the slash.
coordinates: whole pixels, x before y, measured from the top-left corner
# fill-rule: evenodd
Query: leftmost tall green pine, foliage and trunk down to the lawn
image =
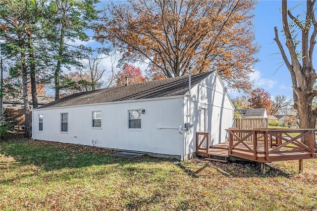
<path id="1" fill-rule="evenodd" d="M 20 71 L 24 102 L 24 135 L 31 137 L 30 109 L 27 93 L 27 54 L 30 52 L 32 31 L 36 28 L 38 11 L 44 5 L 41 0 L 2 0 L 0 4 L 0 37 L 2 51 L 16 58 L 15 67 Z"/>

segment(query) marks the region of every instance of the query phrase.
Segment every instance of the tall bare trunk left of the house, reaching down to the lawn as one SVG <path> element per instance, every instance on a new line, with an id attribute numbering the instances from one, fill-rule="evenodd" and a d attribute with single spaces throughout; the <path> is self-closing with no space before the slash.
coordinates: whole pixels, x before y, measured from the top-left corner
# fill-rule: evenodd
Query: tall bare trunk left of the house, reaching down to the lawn
<path id="1" fill-rule="evenodd" d="M 28 100 L 28 73 L 25 66 L 25 55 L 21 52 L 21 72 L 22 72 L 22 86 L 23 86 L 23 102 L 24 102 L 24 136 L 31 137 L 30 127 L 30 106 Z"/>

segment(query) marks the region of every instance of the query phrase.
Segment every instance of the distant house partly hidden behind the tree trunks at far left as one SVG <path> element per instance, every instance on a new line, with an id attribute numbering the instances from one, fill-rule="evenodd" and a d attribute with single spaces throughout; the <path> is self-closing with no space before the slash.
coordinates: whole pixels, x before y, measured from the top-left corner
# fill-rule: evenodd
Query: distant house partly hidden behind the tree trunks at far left
<path id="1" fill-rule="evenodd" d="M 55 100 L 54 97 L 39 96 L 39 95 L 37 97 L 38 97 L 38 106 L 48 104 Z M 28 94 L 28 101 L 30 104 L 30 109 L 33 109 L 33 101 L 32 101 L 31 94 Z M 20 96 L 20 97 L 15 97 L 10 99 L 3 99 L 3 108 L 24 109 L 23 97 Z"/>

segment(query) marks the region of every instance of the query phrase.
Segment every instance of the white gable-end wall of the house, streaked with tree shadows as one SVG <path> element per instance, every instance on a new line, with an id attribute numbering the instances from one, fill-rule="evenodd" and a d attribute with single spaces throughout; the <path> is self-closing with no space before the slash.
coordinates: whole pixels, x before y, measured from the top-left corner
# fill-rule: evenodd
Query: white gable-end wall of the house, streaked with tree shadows
<path id="1" fill-rule="evenodd" d="M 191 122 L 194 127 L 186 134 L 185 155 L 196 151 L 196 131 L 200 130 L 201 108 L 206 108 L 207 132 L 210 133 L 211 145 L 227 141 L 225 129 L 233 126 L 234 106 L 225 91 L 218 75 L 214 72 L 191 89 Z M 189 122 L 189 99 L 185 98 L 184 123 Z"/>

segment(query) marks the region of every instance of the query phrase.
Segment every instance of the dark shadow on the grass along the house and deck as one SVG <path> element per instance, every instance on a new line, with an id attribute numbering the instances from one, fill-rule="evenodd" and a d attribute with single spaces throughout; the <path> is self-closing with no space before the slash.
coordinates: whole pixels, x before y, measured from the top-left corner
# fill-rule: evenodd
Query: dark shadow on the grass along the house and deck
<path id="1" fill-rule="evenodd" d="M 172 162 L 173 159 L 153 158 L 150 156 L 141 156 L 134 159 L 126 159 L 120 157 L 111 156 L 111 153 L 116 151 L 100 149 L 92 146 L 65 144 L 50 141 L 38 141 L 29 139 L 10 140 L 0 143 L 0 154 L 13 157 L 16 161 L 24 165 L 34 165 L 45 171 L 54 171 L 59 169 L 68 169 L 66 172 L 58 172 L 59 178 L 66 179 L 69 176 L 73 176 L 78 169 L 90 167 L 90 166 L 103 166 L 112 165 L 111 169 L 122 168 L 129 164 L 138 163 L 161 163 Z M 193 170 L 192 166 L 179 163 L 175 165 L 189 176 L 198 178 L 199 173 L 207 167 L 216 168 L 218 172 L 225 177 L 275 177 L 283 176 L 290 177 L 292 174 L 287 174 L 280 169 L 276 169 L 268 166 L 267 173 L 261 174 L 260 166 L 258 164 L 243 162 L 243 163 L 215 163 L 210 162 L 207 165 L 203 165 L 199 169 Z M 5 168 L 0 165 L 0 168 Z M 138 168 L 125 167 L 122 174 L 133 174 L 141 171 Z M 71 170 L 77 169 L 77 170 Z M 159 169 L 149 169 L 148 173 L 156 173 Z M 100 172 L 93 172 L 94 174 L 105 175 L 106 169 L 101 169 Z M 168 173 L 168 172 L 167 172 Z M 81 175 L 77 175 L 80 177 Z M 55 179 L 58 180 L 58 177 Z"/>

